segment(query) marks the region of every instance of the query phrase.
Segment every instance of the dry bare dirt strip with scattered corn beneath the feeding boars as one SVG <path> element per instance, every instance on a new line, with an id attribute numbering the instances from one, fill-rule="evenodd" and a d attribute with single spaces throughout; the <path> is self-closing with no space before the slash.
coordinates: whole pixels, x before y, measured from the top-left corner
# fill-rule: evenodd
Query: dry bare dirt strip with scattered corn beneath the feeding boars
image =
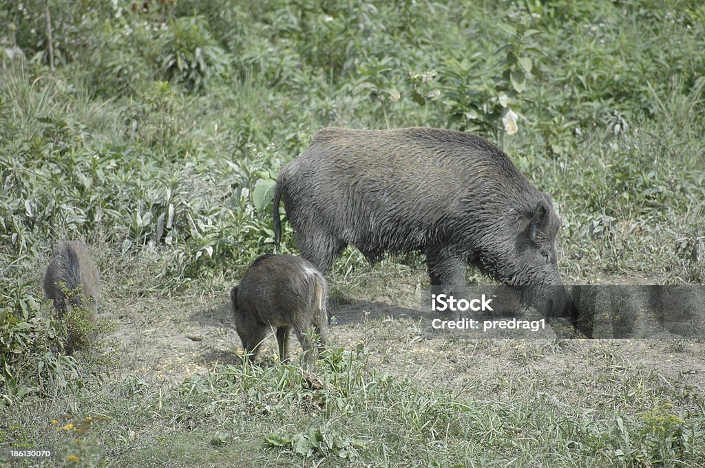
<path id="1" fill-rule="evenodd" d="M 423 272 L 394 278 L 371 270 L 369 275 L 367 284 L 379 287 L 363 288 L 370 291 L 368 296 L 360 289 L 356 298 L 347 291 L 333 294 L 330 341 L 348 350 L 364 343 L 382 374 L 475 398 L 513 399 L 527 388 L 539 388 L 557 405 L 585 400 L 588 407 L 599 405 L 603 396 L 639 398 L 644 386 L 650 392 L 675 387 L 699 398 L 705 388 L 702 339 L 556 339 L 551 329 L 527 339 L 439 333 L 431 331 L 430 312 L 419 301 Z M 145 293 L 135 298 L 130 293 L 128 298 L 120 287 L 111 286 L 115 277 L 104 276 L 100 315 L 116 322 L 110 339 L 121 365 L 111 378 L 138 377 L 167 390 L 187 377 L 207 375 L 216 364 L 240 362 L 226 282 L 222 291 L 202 296 Z M 639 278 L 642 284 L 648 280 Z M 600 282 L 620 281 L 601 278 L 594 283 Z M 299 349 L 292 346 L 290 354 Z M 258 360 L 274 365 L 275 356 L 276 340 L 270 336 Z"/>

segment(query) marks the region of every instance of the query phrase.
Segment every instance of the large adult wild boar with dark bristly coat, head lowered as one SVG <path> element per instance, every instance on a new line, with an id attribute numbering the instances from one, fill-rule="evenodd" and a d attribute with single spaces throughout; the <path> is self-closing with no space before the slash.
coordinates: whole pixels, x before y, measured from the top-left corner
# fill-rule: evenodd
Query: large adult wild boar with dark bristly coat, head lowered
<path id="1" fill-rule="evenodd" d="M 283 198 L 304 258 L 321 272 L 353 244 L 374 262 L 426 254 L 431 286 L 462 296 L 466 265 L 515 286 L 548 315 L 572 312 L 558 273 L 551 198 L 489 141 L 446 129 L 323 129 L 285 165 Z"/>

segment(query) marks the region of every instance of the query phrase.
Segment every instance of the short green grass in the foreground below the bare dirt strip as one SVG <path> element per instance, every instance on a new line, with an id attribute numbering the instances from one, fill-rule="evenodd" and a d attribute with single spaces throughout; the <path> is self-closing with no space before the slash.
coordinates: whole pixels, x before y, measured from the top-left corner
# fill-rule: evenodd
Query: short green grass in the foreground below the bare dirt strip
<path id="1" fill-rule="evenodd" d="M 506 351 L 508 343 L 515 346 L 489 344 Z M 621 352 L 604 343 L 545 355 L 534 348 L 532 362 L 558 356 L 574 364 L 557 374 L 467 372 L 462 388 L 449 391 L 381 374 L 362 345 L 333 348 L 317 384 L 286 365 L 218 366 L 170 392 L 135 377 L 109 379 L 75 397 L 28 398 L 13 407 L 8 429 L 18 445 L 42 441 L 66 454 L 83 450 L 84 460 L 144 467 L 699 466 L 701 393 L 630 369 Z M 67 408 L 72 419 L 37 424 L 37 415 L 61 418 Z M 76 422 L 89 414 L 93 424 L 78 434 Z M 106 414 L 112 419 L 100 420 Z M 73 429 L 56 429 L 72 421 Z"/>

